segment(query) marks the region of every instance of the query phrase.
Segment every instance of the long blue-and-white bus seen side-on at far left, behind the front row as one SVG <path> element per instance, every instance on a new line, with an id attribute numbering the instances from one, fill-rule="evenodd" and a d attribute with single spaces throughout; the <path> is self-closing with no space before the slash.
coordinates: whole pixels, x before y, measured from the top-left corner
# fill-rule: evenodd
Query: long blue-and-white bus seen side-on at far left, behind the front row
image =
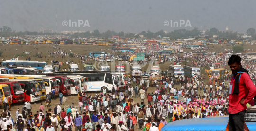
<path id="1" fill-rule="evenodd" d="M 46 62 L 39 61 L 23 61 L 23 60 L 6 60 L 2 62 L 2 67 L 6 67 L 6 65 L 15 65 L 15 66 L 31 66 L 35 67 L 38 70 L 43 70 L 46 66 Z"/>

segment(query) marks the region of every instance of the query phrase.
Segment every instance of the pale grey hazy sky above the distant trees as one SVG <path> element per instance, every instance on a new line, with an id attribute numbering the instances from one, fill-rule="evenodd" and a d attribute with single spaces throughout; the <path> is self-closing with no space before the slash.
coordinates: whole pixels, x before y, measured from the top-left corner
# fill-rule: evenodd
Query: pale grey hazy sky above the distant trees
<path id="1" fill-rule="evenodd" d="M 0 27 L 16 31 L 113 30 L 139 33 L 163 29 L 210 29 L 246 32 L 256 28 L 256 0 L 0 0 Z M 56 26 L 57 14 L 57 26 Z M 90 27 L 63 26 L 63 21 L 88 20 Z M 192 27 L 164 26 L 189 20 Z M 78 26 L 78 25 L 77 25 Z"/>

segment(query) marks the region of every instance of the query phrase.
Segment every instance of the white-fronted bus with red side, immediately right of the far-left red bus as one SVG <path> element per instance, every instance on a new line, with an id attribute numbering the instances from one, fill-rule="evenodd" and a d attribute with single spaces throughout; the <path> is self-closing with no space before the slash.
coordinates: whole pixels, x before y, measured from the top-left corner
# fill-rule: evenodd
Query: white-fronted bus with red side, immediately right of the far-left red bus
<path id="1" fill-rule="evenodd" d="M 25 101 L 40 101 L 40 92 L 36 79 L 10 79 L 10 81 L 18 81 L 20 83 L 22 90 L 24 90 Z"/>

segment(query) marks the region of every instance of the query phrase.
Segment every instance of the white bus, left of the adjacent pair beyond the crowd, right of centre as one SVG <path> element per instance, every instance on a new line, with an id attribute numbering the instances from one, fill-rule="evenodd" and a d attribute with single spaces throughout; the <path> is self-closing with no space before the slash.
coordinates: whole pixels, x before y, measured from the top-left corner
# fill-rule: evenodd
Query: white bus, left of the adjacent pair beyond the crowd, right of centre
<path id="1" fill-rule="evenodd" d="M 169 75 L 171 77 L 184 77 L 184 69 L 181 65 L 169 65 Z"/>

